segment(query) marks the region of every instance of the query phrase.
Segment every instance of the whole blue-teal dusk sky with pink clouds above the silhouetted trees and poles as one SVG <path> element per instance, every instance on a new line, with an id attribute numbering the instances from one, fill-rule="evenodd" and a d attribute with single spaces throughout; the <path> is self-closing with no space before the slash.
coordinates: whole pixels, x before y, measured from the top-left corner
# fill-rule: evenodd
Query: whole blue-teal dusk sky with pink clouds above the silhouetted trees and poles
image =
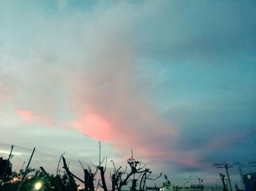
<path id="1" fill-rule="evenodd" d="M 37 147 L 55 172 L 63 152 L 98 163 L 100 140 L 109 161 L 217 179 L 212 163 L 255 161 L 255 8 L 0 1 L 0 155 Z"/>

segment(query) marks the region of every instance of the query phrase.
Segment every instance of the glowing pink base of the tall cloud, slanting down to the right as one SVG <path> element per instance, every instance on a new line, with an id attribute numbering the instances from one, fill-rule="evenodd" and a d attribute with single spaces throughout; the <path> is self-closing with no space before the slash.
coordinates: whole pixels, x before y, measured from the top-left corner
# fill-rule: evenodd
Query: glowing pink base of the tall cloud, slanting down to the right
<path id="1" fill-rule="evenodd" d="M 150 122 L 152 121 L 149 120 Z M 186 157 L 181 157 L 180 152 L 171 151 L 171 145 L 168 144 L 171 139 L 178 137 L 176 128 L 168 128 L 167 124 L 164 125 L 162 122 L 159 122 L 159 127 L 157 127 L 157 123 L 150 125 L 147 121 L 140 122 L 142 125 L 140 128 L 136 123 L 121 122 L 108 114 L 89 113 L 73 120 L 70 125 L 92 139 L 108 141 L 124 158 L 129 157 L 127 152 L 129 153 L 130 149 L 134 149 L 137 153 L 136 157 L 195 165 L 195 160 L 181 160 Z M 145 128 L 144 125 L 148 125 L 148 127 Z"/>

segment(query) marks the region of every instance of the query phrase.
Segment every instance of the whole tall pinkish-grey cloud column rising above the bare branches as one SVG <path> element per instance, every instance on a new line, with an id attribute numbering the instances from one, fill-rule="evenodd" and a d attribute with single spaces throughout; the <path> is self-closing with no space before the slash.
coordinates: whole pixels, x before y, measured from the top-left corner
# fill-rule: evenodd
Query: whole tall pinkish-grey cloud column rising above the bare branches
<path id="1" fill-rule="evenodd" d="M 97 21 L 98 27 L 101 21 L 105 18 Z M 137 81 L 131 41 L 103 31 L 88 34 L 94 44 L 88 50 L 90 66 L 78 67 L 66 83 L 72 90 L 68 103 L 76 114 L 70 125 L 92 139 L 110 142 L 122 156 L 132 148 L 138 157 L 178 161 L 170 155 L 178 128 L 147 102 L 146 85 Z"/>

